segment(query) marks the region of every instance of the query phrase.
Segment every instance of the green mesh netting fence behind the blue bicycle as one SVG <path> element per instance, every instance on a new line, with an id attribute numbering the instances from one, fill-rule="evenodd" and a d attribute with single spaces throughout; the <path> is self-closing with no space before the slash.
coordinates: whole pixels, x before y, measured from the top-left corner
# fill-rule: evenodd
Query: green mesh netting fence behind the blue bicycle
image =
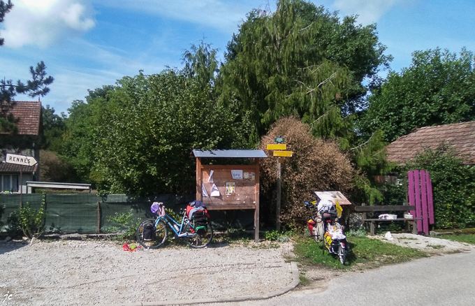
<path id="1" fill-rule="evenodd" d="M 161 194 L 145 198 L 133 195 L 109 194 L 23 194 L 22 202 L 29 203 L 38 210 L 45 201 L 47 233 L 107 233 L 120 231 L 122 226 L 113 221 L 114 217 L 126 214 L 134 222 L 153 217 L 150 212 L 152 202 L 165 203 L 175 212 L 194 200 L 194 195 Z M 0 194 L 0 205 L 5 210 L 0 221 L 7 224 L 10 213 L 20 205 L 20 194 Z M 227 228 L 254 228 L 254 210 L 211 211 L 210 219 L 217 230 Z M 5 227 L 3 227 L 5 228 Z"/>

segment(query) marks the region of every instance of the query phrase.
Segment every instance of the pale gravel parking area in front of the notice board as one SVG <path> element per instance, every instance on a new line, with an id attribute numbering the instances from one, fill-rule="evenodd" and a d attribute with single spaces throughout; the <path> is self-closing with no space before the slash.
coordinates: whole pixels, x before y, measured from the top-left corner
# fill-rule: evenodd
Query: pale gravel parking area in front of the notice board
<path id="1" fill-rule="evenodd" d="M 267 247 L 266 247 L 267 246 Z M 91 305 L 270 293 L 292 282 L 290 243 L 124 252 L 105 240 L 0 243 L 2 305 Z"/>

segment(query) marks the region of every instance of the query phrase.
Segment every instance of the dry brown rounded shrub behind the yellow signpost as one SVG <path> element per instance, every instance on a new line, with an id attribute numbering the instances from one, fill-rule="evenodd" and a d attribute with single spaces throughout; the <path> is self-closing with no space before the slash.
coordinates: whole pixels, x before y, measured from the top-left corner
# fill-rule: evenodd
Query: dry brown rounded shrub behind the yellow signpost
<path id="1" fill-rule="evenodd" d="M 351 162 L 337 143 L 314 138 L 309 126 L 295 117 L 279 119 L 269 133 L 261 138 L 260 149 L 268 154 L 261 161 L 261 221 L 275 224 L 277 204 L 277 157 L 267 150 L 274 138 L 285 138 L 287 151 L 282 163 L 282 226 L 295 227 L 306 224 L 308 212 L 304 201 L 314 201 L 312 191 L 342 191 L 353 187 L 354 174 Z"/>

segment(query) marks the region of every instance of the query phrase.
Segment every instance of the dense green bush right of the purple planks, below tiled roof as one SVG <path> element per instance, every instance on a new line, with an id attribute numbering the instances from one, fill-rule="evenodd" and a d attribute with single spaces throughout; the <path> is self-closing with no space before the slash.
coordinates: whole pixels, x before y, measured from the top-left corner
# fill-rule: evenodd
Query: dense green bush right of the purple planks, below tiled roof
<path id="1" fill-rule="evenodd" d="M 429 171 L 436 228 L 475 226 L 474 166 L 464 165 L 453 150 L 441 145 L 418 154 L 405 168 Z"/>

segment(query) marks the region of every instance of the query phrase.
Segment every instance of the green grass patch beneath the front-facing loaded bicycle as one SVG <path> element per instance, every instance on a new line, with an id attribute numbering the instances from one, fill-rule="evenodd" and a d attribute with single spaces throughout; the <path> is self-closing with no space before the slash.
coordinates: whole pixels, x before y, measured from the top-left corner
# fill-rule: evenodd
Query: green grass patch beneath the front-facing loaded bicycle
<path id="1" fill-rule="evenodd" d="M 347 238 L 350 253 L 346 256 L 346 264 L 342 265 L 339 258 L 323 251 L 323 244 L 316 244 L 312 238 L 295 237 L 294 252 L 302 264 L 322 264 L 334 269 L 349 269 L 358 263 L 400 263 L 411 258 L 426 257 L 428 254 L 400 247 L 387 242 L 363 237 Z"/>

